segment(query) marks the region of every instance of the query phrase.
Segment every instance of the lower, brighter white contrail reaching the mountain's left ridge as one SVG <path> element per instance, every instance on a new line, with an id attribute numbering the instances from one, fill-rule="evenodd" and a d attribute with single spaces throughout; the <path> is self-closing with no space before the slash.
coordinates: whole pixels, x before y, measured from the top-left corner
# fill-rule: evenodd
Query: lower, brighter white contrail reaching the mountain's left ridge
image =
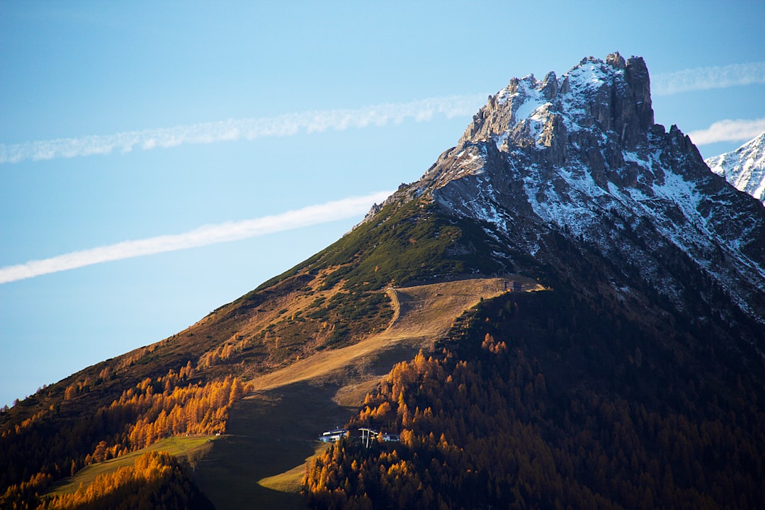
<path id="1" fill-rule="evenodd" d="M 42 274 L 83 268 L 87 265 L 100 264 L 102 262 L 197 248 L 220 242 L 264 236 L 273 232 L 299 229 L 304 226 L 328 223 L 338 219 L 348 219 L 366 213 L 373 203 L 382 202 L 386 197 L 389 197 L 390 193 L 389 191 L 379 191 L 363 197 L 335 200 L 274 216 L 202 226 L 199 229 L 182 234 L 119 242 L 115 245 L 99 246 L 98 248 L 82 250 L 80 252 L 71 252 L 56 257 L 29 261 L 26 264 L 6 266 L 5 268 L 0 268 L 0 284 L 34 278 Z"/>

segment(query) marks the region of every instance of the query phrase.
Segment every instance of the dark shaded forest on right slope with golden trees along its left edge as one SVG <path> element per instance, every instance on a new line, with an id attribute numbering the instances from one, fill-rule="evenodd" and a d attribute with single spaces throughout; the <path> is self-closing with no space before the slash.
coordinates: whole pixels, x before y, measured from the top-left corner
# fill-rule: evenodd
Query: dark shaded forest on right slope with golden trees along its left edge
<path id="1" fill-rule="evenodd" d="M 397 365 L 349 425 L 401 441 L 330 447 L 312 508 L 762 508 L 762 385 L 736 349 L 590 305 L 507 294 Z"/>

